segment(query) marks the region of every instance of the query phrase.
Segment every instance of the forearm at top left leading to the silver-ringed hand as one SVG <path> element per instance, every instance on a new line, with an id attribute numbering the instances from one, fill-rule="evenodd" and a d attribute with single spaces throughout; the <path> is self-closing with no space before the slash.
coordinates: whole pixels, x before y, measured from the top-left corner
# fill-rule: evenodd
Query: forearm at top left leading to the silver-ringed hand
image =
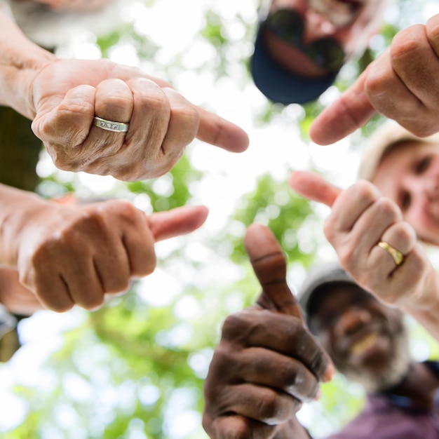
<path id="1" fill-rule="evenodd" d="M 34 77 L 57 58 L 29 41 L 3 8 L 0 8 L 0 29 L 0 105 L 12 107 L 32 120 Z"/>

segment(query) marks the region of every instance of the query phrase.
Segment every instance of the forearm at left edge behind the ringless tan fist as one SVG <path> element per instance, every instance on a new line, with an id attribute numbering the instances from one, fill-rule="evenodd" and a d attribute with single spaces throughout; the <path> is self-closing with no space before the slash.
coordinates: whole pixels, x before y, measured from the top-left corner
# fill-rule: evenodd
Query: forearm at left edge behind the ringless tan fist
<path id="1" fill-rule="evenodd" d="M 36 224 L 48 203 L 32 192 L 0 184 L 0 266 L 17 266 L 22 236 L 29 226 L 38 233 Z"/>

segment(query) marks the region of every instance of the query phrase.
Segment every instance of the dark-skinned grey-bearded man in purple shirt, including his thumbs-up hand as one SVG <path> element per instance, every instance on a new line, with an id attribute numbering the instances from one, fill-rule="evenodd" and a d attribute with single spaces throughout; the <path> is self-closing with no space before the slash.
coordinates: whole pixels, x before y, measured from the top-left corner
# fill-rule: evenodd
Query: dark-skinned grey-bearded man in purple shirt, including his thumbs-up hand
<path id="1" fill-rule="evenodd" d="M 309 273 L 299 292 L 306 328 L 268 229 L 245 245 L 262 294 L 229 316 L 205 381 L 203 426 L 212 439 L 309 438 L 295 413 L 335 367 L 367 390 L 358 417 L 331 439 L 439 438 L 439 365 L 410 358 L 403 315 L 360 288 L 337 264 Z M 325 353 L 325 351 L 327 353 Z"/>

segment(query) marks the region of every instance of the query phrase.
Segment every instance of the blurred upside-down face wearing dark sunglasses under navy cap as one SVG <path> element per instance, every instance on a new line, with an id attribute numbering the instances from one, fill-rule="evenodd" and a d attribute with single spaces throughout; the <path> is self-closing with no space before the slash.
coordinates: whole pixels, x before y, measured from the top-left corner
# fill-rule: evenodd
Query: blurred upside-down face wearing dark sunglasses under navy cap
<path id="1" fill-rule="evenodd" d="M 273 0 L 264 25 L 272 57 L 308 78 L 338 72 L 379 31 L 388 0 Z"/>

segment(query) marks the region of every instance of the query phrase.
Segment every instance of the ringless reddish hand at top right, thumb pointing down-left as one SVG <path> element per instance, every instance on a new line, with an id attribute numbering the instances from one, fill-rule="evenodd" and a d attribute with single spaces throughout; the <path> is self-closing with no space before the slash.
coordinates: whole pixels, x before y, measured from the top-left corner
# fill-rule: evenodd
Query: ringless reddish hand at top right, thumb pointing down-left
<path id="1" fill-rule="evenodd" d="M 332 144 L 379 112 L 415 135 L 439 131 L 439 14 L 398 32 L 339 100 L 311 124 L 318 144 Z"/>

